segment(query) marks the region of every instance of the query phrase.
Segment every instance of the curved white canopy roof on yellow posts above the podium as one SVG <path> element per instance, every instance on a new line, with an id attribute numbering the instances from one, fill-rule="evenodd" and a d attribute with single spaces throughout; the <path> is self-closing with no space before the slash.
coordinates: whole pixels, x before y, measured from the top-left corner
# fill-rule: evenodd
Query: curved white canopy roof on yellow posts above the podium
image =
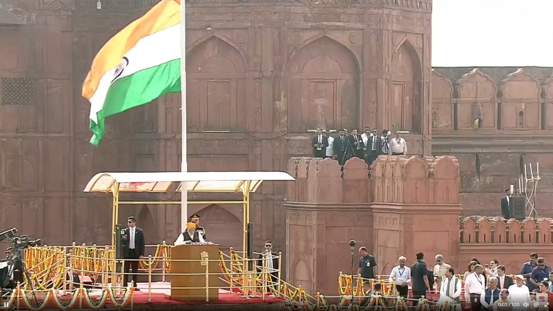
<path id="1" fill-rule="evenodd" d="M 85 192 L 111 192 L 119 183 L 120 192 L 166 192 L 173 183 L 186 184 L 187 191 L 242 192 L 251 182 L 249 191 L 257 190 L 263 180 L 295 180 L 284 172 L 153 172 L 153 173 L 98 173 L 90 179 Z"/>

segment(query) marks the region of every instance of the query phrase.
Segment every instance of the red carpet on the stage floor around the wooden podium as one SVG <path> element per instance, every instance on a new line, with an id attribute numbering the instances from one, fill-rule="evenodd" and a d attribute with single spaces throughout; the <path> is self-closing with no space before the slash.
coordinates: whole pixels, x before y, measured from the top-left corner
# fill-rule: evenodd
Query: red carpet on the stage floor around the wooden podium
<path id="1" fill-rule="evenodd" d="M 155 282 L 152 283 L 152 302 L 148 302 L 148 283 L 137 283 L 137 288 L 140 291 L 133 293 L 133 304 L 155 304 L 155 305 L 186 305 L 186 304 L 205 304 L 205 302 L 180 302 L 170 299 L 171 295 L 171 283 L 169 282 Z M 91 294 L 91 296 L 94 296 Z M 231 293 L 224 289 L 219 289 L 219 300 L 216 302 L 210 302 L 209 304 L 250 304 L 250 303 L 280 303 L 284 302 L 283 297 L 241 297 L 239 293 Z"/>

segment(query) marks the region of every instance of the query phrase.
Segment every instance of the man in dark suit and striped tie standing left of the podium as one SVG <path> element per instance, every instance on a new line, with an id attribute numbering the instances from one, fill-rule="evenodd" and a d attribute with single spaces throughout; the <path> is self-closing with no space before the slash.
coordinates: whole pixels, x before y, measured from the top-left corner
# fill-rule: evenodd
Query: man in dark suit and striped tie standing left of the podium
<path id="1" fill-rule="evenodd" d="M 144 232 L 136 226 L 137 219 L 131 216 L 127 220 L 128 227 L 123 229 L 123 234 L 127 236 L 123 240 L 123 259 L 126 259 L 123 273 L 132 270 L 134 287 L 137 286 L 138 260 L 144 258 Z M 128 259 L 128 260 L 127 260 Z M 123 277 L 123 287 L 127 287 L 129 275 Z"/>

